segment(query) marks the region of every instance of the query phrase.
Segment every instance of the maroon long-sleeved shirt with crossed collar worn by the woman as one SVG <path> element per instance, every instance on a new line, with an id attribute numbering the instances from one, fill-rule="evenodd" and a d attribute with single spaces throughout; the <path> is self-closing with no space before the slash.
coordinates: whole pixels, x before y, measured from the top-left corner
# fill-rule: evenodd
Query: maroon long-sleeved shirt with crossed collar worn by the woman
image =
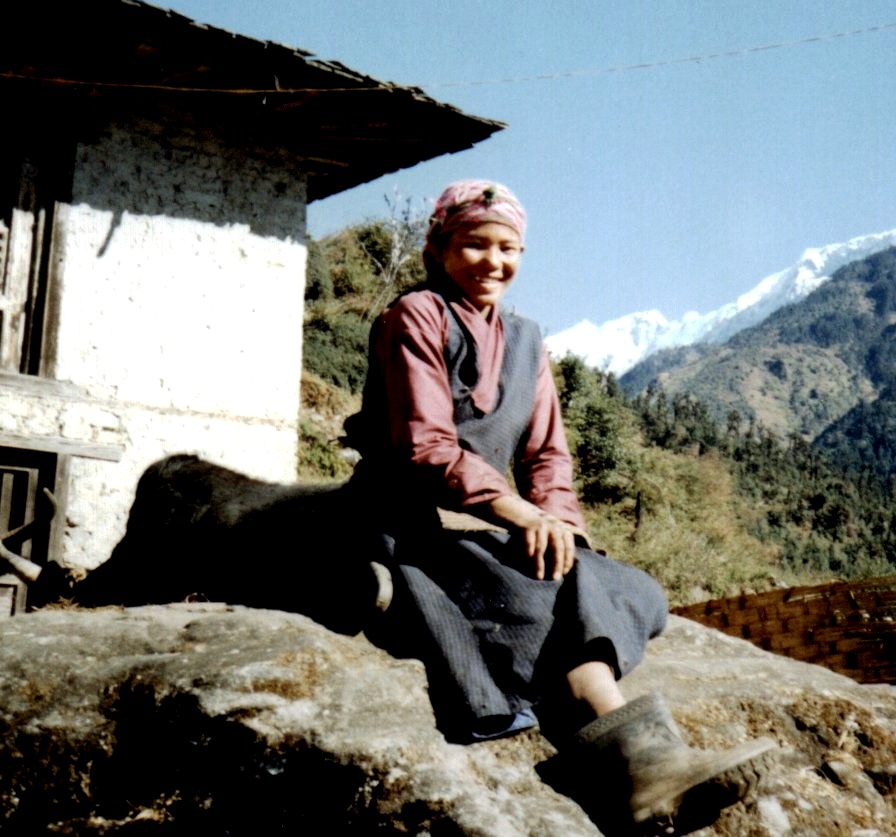
<path id="1" fill-rule="evenodd" d="M 491 411 L 504 358 L 504 327 L 495 309 L 488 318 L 466 299 L 446 302 L 432 291 L 407 294 L 383 312 L 376 361 L 388 393 L 389 433 L 395 450 L 414 464 L 441 470 L 445 485 L 463 508 L 513 494 L 503 474 L 458 442 L 444 349 L 451 305 L 476 344 L 479 380 L 473 401 Z M 535 406 L 525 436 L 523 497 L 560 520 L 582 528 L 572 490 L 572 460 L 547 353 L 542 353 Z"/>

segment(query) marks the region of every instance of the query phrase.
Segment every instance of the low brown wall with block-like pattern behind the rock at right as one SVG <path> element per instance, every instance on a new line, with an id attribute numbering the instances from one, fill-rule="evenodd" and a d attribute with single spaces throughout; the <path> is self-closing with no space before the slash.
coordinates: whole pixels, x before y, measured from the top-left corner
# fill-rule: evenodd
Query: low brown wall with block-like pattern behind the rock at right
<path id="1" fill-rule="evenodd" d="M 896 683 L 896 576 L 713 599 L 673 612 L 861 683 Z"/>

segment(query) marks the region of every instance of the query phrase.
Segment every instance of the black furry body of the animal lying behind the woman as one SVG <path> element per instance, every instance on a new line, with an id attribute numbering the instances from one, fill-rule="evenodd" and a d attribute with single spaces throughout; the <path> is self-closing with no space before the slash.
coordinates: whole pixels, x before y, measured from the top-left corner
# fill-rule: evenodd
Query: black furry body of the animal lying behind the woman
<path id="1" fill-rule="evenodd" d="M 304 613 L 357 633 L 376 577 L 343 485 L 262 482 L 196 456 L 156 462 L 140 478 L 127 531 L 75 585 L 86 607 L 197 598 Z"/>

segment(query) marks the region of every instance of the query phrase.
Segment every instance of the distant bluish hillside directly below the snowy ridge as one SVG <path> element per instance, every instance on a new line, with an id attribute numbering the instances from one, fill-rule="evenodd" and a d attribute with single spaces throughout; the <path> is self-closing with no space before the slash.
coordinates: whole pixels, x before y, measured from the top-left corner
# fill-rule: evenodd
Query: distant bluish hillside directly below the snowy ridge
<path id="1" fill-rule="evenodd" d="M 896 248 L 838 270 L 803 301 L 723 346 L 659 353 L 627 392 L 687 393 L 779 438 L 798 434 L 855 477 L 896 476 Z"/>

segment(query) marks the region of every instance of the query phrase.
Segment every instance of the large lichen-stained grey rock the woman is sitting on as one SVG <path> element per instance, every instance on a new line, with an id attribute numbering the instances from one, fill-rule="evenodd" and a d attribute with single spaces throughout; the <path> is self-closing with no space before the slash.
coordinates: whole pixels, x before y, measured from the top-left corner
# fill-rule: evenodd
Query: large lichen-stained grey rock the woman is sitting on
<path id="1" fill-rule="evenodd" d="M 0 631 L 3 833 L 599 833 L 539 778 L 537 732 L 448 744 L 420 663 L 302 616 L 44 610 Z M 661 685 L 695 744 L 787 748 L 702 833 L 896 834 L 896 689 L 675 617 L 623 685 Z"/>

